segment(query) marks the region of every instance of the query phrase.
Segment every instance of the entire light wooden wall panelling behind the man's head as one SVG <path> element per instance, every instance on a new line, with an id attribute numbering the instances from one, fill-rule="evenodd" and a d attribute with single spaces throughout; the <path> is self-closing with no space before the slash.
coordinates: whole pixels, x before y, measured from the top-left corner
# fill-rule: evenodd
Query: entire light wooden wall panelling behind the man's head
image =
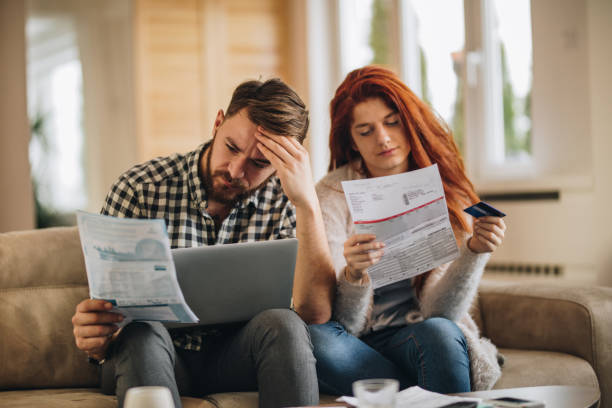
<path id="1" fill-rule="evenodd" d="M 140 158 L 209 139 L 245 80 L 280 77 L 305 89 L 291 57 L 295 47 L 306 52 L 305 35 L 291 28 L 301 1 L 134 0 Z"/>

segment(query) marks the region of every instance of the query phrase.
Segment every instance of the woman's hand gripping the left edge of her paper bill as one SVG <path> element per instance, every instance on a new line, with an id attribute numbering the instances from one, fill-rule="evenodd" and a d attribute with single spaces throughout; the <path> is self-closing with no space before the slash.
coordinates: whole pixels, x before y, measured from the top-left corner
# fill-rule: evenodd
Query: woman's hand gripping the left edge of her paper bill
<path id="1" fill-rule="evenodd" d="M 380 261 L 385 243 L 375 239 L 374 234 L 355 234 L 344 243 L 345 274 L 349 282 L 365 283 L 367 269 Z"/>

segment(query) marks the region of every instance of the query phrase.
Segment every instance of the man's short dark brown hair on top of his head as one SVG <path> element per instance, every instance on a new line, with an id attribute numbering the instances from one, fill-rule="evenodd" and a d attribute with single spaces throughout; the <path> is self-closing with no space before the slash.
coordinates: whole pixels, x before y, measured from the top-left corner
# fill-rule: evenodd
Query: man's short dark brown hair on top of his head
<path id="1" fill-rule="evenodd" d="M 298 94 L 278 78 L 238 85 L 225 112 L 232 117 L 246 108 L 249 120 L 272 133 L 295 137 L 300 143 L 308 131 L 308 110 Z"/>

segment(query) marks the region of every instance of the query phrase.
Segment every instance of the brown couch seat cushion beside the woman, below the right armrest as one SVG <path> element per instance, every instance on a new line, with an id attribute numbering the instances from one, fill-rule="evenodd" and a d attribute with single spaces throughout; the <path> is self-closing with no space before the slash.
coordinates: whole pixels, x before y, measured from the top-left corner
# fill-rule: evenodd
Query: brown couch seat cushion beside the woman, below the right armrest
<path id="1" fill-rule="evenodd" d="M 593 367 L 580 357 L 550 351 L 499 349 L 502 377 L 493 388 L 536 385 L 585 385 L 599 388 Z"/>

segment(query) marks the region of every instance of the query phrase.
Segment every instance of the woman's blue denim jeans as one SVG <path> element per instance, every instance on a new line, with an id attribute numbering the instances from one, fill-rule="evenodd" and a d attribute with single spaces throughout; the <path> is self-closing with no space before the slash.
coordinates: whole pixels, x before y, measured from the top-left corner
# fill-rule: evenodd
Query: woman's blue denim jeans
<path id="1" fill-rule="evenodd" d="M 364 378 L 395 378 L 440 393 L 470 391 L 467 344 L 455 323 L 434 317 L 357 338 L 338 322 L 309 326 L 321 392 L 353 395 Z"/>

